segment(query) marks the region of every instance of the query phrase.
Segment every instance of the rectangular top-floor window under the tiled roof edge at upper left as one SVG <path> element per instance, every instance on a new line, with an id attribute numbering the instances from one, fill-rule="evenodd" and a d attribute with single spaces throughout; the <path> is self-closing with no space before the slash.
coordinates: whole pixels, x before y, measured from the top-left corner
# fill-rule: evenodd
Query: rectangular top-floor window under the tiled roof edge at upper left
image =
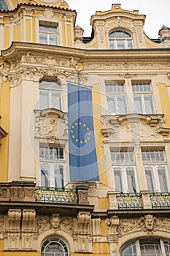
<path id="1" fill-rule="evenodd" d="M 44 45 L 58 45 L 58 27 L 39 24 L 39 42 Z"/>

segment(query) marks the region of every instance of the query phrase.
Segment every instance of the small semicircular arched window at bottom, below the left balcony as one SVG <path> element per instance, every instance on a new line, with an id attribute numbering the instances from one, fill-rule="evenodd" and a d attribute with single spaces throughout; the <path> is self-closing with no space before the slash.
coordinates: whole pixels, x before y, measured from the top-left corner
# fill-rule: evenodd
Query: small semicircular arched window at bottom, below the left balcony
<path id="1" fill-rule="evenodd" d="M 69 249 L 60 238 L 45 240 L 41 252 L 41 256 L 69 256 Z"/>

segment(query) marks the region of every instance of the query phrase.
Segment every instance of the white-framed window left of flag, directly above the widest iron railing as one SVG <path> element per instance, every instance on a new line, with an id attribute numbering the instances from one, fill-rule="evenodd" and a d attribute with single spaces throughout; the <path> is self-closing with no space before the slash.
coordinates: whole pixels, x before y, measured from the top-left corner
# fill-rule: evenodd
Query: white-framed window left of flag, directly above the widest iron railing
<path id="1" fill-rule="evenodd" d="M 41 187 L 63 187 L 63 148 L 40 146 L 39 162 L 41 166 Z"/>

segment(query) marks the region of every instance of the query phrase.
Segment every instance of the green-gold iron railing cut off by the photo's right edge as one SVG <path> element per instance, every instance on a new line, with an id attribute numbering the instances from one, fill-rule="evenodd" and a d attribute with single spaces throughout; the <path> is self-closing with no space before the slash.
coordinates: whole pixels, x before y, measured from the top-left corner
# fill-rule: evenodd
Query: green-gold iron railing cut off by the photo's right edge
<path id="1" fill-rule="evenodd" d="M 154 209 L 170 208 L 170 193 L 150 193 L 150 200 Z"/>

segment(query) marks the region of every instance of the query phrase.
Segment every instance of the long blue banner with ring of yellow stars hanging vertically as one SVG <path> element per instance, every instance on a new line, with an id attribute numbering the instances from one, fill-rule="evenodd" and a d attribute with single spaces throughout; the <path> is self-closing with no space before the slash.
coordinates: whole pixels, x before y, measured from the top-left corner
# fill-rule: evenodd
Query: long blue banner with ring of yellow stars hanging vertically
<path id="1" fill-rule="evenodd" d="M 70 181 L 98 181 L 92 91 L 68 83 Z"/>

